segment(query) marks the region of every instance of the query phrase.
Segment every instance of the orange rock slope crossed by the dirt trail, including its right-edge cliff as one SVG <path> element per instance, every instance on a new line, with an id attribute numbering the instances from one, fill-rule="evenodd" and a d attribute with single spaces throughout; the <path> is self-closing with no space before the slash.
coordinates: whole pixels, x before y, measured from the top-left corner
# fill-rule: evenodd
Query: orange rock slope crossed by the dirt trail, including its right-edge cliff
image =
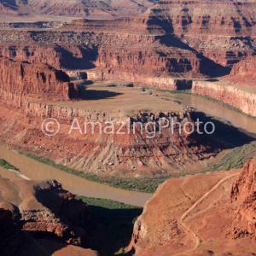
<path id="1" fill-rule="evenodd" d="M 135 255 L 253 255 L 254 171 L 255 158 L 242 170 L 166 181 L 137 219 L 130 248 Z"/>

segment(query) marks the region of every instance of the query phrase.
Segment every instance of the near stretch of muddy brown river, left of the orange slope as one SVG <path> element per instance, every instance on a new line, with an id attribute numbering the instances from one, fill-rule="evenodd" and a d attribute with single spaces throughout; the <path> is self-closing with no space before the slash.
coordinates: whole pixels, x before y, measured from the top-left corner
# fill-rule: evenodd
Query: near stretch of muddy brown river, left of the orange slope
<path id="1" fill-rule="evenodd" d="M 63 189 L 67 189 L 76 195 L 111 199 L 138 207 L 143 207 L 152 197 L 152 194 L 116 189 L 101 183 L 88 181 L 82 177 L 44 165 L 3 146 L 0 146 L 0 159 L 8 161 L 30 179 L 55 179 L 62 184 Z M 10 172 L 3 168 L 0 168 L 0 174 L 2 177 L 10 179 L 14 177 L 21 178 L 19 173 Z"/>

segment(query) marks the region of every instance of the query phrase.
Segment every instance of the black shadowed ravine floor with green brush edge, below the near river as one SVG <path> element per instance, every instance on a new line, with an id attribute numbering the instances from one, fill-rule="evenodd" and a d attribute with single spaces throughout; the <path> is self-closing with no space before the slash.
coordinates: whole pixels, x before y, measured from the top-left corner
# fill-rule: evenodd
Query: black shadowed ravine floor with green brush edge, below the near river
<path id="1" fill-rule="evenodd" d="M 101 255 L 125 253 L 131 241 L 133 226 L 137 217 L 142 214 L 143 207 L 126 205 L 108 199 L 76 196 L 84 201 L 91 212 L 93 230 L 88 237 L 90 248 Z"/>

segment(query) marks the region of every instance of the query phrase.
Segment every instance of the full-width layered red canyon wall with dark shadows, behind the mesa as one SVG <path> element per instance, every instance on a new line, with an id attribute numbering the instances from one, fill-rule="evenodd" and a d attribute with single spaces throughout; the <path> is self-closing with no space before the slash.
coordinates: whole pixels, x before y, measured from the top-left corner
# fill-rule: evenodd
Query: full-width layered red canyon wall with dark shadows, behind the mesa
<path id="1" fill-rule="evenodd" d="M 255 6 L 160 1 L 130 18 L 74 20 L 31 31 L 21 25 L 3 27 L 0 52 L 30 62 L 47 61 L 56 68 L 84 70 L 95 81 L 126 79 L 174 90 L 170 77 L 222 76 L 236 62 L 255 54 Z"/>

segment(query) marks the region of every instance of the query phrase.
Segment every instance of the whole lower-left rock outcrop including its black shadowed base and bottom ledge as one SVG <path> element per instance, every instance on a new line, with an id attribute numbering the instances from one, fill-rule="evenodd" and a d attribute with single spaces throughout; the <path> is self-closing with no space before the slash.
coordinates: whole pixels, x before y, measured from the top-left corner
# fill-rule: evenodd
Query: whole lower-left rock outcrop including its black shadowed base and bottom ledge
<path id="1" fill-rule="evenodd" d="M 1 255 L 99 255 L 84 249 L 90 210 L 60 183 L 0 177 L 0 189 Z"/>

